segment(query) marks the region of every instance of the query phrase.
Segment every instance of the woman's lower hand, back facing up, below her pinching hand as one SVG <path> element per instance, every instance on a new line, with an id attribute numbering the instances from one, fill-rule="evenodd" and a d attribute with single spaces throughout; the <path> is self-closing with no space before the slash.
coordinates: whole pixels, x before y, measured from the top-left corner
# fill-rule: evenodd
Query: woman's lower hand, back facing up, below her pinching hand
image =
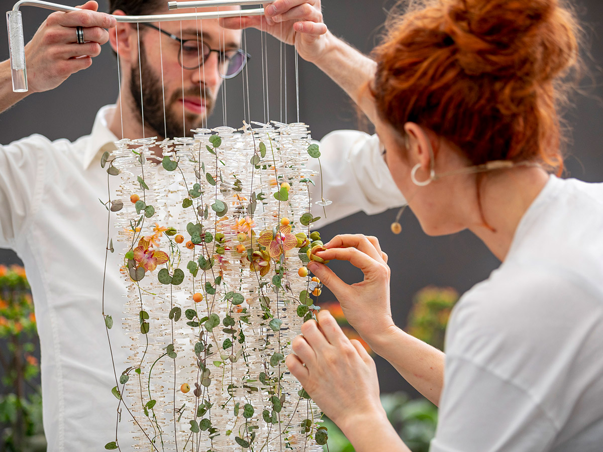
<path id="1" fill-rule="evenodd" d="M 373 359 L 327 310 L 301 326 L 286 365 L 323 412 L 346 433 L 359 419 L 387 422 Z M 352 389 L 353 388 L 353 389 Z"/>

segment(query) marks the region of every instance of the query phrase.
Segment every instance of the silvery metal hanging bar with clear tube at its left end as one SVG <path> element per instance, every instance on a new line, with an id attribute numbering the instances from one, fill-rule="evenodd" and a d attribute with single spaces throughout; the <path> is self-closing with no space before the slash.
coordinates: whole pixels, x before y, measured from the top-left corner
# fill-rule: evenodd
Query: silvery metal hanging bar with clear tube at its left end
<path id="1" fill-rule="evenodd" d="M 171 2 L 175 3 L 175 2 Z M 206 2 L 178 2 L 186 3 L 186 7 L 194 7 L 192 3 L 203 4 L 203 7 L 219 7 L 232 5 L 257 5 L 261 2 L 256 0 L 208 0 Z M 19 0 L 14 4 L 13 9 L 6 13 L 8 27 L 8 47 L 10 51 L 10 65 L 13 78 L 13 91 L 16 93 L 27 92 L 27 67 L 25 64 L 25 40 L 23 36 L 23 22 L 21 18 L 22 6 L 35 6 L 53 11 L 63 11 L 69 13 L 71 11 L 81 11 L 80 8 L 60 5 L 57 3 L 46 2 L 43 0 Z M 171 8 L 171 7 L 170 7 Z M 178 5 L 176 8 L 183 8 Z M 174 8 L 171 8 L 174 9 Z M 241 16 L 262 16 L 264 8 L 255 8 L 250 10 L 235 10 L 235 11 L 209 11 L 203 13 L 185 13 L 185 14 L 149 14 L 146 16 L 116 16 L 113 17 L 117 22 L 125 23 L 144 23 L 144 22 L 168 22 L 170 20 L 202 20 L 202 19 L 220 19 L 222 17 L 241 17 Z"/>

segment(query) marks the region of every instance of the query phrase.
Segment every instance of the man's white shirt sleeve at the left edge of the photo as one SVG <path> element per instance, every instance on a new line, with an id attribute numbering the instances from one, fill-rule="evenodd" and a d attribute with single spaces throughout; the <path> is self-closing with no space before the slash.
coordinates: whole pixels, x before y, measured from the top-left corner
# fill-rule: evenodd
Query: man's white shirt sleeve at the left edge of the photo
<path id="1" fill-rule="evenodd" d="M 44 180 L 43 152 L 30 137 L 0 145 L 0 247 L 13 248 L 27 228 Z"/>

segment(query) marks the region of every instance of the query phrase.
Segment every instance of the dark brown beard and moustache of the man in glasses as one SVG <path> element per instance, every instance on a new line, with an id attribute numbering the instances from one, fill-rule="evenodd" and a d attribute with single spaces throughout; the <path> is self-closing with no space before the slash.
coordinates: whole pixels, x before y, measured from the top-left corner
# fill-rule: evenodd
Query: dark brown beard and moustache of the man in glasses
<path id="1" fill-rule="evenodd" d="M 142 97 L 140 93 L 140 74 L 142 73 Z M 212 114 L 213 99 L 201 93 L 201 86 L 184 91 L 176 90 L 169 99 L 165 99 L 163 107 L 162 83 L 147 62 L 144 46 L 140 43 L 140 68 L 134 66 L 131 71 L 130 93 L 136 105 L 136 113 L 142 122 L 142 105 L 144 105 L 144 125 L 157 134 L 165 133 L 166 138 L 193 136 L 191 129 L 203 127 L 203 121 Z M 184 115 L 174 113 L 173 105 L 183 98 L 192 97 L 205 102 L 206 113 L 203 116 L 185 111 Z M 184 123 L 183 123 L 184 119 Z"/>

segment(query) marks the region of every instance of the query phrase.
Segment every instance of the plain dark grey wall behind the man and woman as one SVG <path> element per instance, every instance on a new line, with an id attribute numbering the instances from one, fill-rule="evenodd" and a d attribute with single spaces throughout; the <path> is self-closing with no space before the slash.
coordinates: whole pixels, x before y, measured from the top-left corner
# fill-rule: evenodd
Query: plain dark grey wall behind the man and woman
<path id="1" fill-rule="evenodd" d="M 4 10 L 9 10 L 13 1 L 0 0 Z M 80 4 L 66 0 L 66 4 Z M 603 181 L 603 2 L 601 0 L 576 0 L 587 34 L 584 57 L 589 74 L 582 83 L 582 94 L 575 96 L 574 107 L 565 118 L 572 131 L 569 146 L 567 175 L 585 181 Z M 100 9 L 106 10 L 107 1 L 99 0 Z M 324 20 L 336 36 L 344 37 L 362 52 L 368 53 L 379 37 L 379 27 L 384 22 L 386 11 L 392 1 L 324 0 Z M 38 8 L 24 7 L 25 39 L 33 36 L 36 28 L 48 14 Z M 249 67 L 251 117 L 264 119 L 264 90 L 262 89 L 262 37 L 255 30 L 247 32 L 247 50 L 253 55 Z M 286 65 L 287 108 L 289 122 L 295 119 L 295 76 L 294 51 L 287 46 L 283 65 L 280 63 L 280 44 L 267 37 L 267 77 L 270 98 L 270 118 L 284 119 L 281 112 L 280 89 L 281 69 Z M 8 58 L 6 33 L 0 33 L 0 58 Z M 299 60 L 300 119 L 310 125 L 313 137 L 320 139 L 329 131 L 342 128 L 358 128 L 355 108 L 335 83 L 316 67 Z M 242 78 L 239 76 L 226 85 L 227 124 L 241 125 L 244 118 L 242 105 Z M 118 95 L 116 60 L 109 45 L 94 59 L 92 67 L 69 78 L 52 92 L 31 95 L 11 110 L 0 115 L 0 142 L 40 133 L 51 139 L 71 140 L 87 134 L 92 127 L 99 107 L 115 101 Z M 218 102 L 210 126 L 223 124 L 222 102 Z M 0 169 L 1 171 L 1 169 Z M 2 206 L 0 206 L 0 209 Z M 488 277 L 499 265 L 496 258 L 476 237 L 470 233 L 459 233 L 446 237 L 428 237 L 418 222 L 407 210 L 401 219 L 403 233 L 394 236 L 390 224 L 396 210 L 368 217 L 358 213 L 321 230 L 323 237 L 338 233 L 364 233 L 379 237 L 390 256 L 393 280 L 391 302 L 397 324 L 406 324 L 406 316 L 413 295 L 430 284 L 452 286 L 463 293 Z M 18 262 L 10 251 L 0 250 L 0 263 Z M 361 273 L 349 266 L 333 262 L 331 268 L 349 283 L 358 281 Z M 323 301 L 332 299 L 328 291 L 323 292 Z M 405 389 L 411 391 L 405 381 L 387 362 L 376 358 L 380 385 L 384 392 Z"/>

